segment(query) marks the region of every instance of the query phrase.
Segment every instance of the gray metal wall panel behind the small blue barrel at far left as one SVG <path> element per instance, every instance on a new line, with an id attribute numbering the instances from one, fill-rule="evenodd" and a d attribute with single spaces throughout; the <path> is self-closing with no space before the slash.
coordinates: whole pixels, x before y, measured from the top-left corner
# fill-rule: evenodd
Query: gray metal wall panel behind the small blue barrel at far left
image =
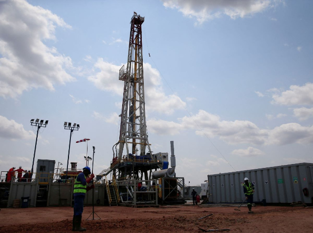
<path id="1" fill-rule="evenodd" d="M 14 199 L 29 197 L 28 205 L 36 206 L 37 183 L 36 182 L 13 182 L 10 188 L 10 195 L 7 207 L 13 206 Z"/>

